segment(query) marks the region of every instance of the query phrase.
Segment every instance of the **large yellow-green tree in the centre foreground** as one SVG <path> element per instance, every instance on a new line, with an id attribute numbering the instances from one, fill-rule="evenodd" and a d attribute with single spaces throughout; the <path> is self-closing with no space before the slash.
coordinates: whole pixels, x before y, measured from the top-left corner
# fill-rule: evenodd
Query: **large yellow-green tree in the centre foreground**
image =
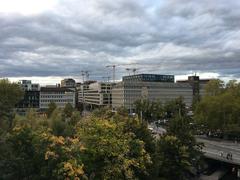
<path id="1" fill-rule="evenodd" d="M 81 124 L 78 136 L 84 142 L 85 171 L 97 179 L 137 179 L 151 163 L 144 142 L 123 131 L 123 123 L 90 119 Z"/>

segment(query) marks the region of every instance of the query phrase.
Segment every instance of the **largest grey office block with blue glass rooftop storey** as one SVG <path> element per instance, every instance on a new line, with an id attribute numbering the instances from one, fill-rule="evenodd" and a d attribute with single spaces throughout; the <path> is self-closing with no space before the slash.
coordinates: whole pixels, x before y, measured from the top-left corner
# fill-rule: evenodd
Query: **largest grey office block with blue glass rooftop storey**
<path id="1" fill-rule="evenodd" d="M 192 87 L 188 83 L 174 83 L 173 75 L 138 74 L 123 77 L 123 81 L 112 89 L 114 109 L 125 107 L 134 109 L 138 99 L 170 101 L 182 96 L 187 106 L 192 104 Z"/>

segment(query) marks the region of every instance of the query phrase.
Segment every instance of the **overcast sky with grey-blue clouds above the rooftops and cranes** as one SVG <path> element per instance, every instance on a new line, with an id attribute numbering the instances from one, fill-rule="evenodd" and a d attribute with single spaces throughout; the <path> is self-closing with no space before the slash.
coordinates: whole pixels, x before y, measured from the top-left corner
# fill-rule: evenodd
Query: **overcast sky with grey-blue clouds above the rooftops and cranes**
<path id="1" fill-rule="evenodd" d="M 240 79 L 239 0 L 0 0 L 0 77 Z"/>

